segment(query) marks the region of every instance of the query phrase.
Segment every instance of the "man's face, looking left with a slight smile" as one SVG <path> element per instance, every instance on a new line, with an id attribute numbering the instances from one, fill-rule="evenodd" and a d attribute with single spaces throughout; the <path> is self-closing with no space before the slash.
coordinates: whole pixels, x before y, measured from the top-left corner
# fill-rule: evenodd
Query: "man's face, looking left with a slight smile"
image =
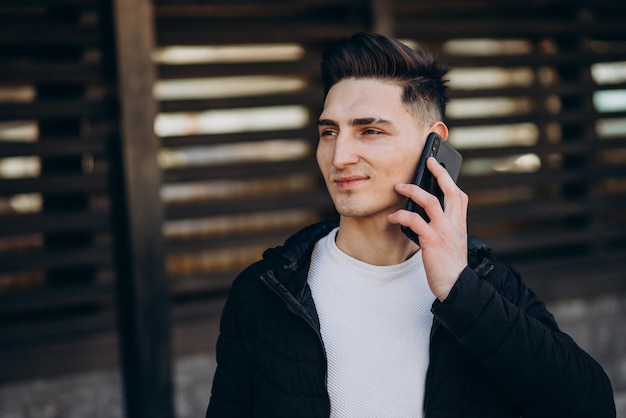
<path id="1" fill-rule="evenodd" d="M 428 129 L 401 95 L 396 84 L 354 78 L 328 92 L 317 163 L 341 216 L 386 217 L 406 203 L 394 185 L 412 180 Z"/>

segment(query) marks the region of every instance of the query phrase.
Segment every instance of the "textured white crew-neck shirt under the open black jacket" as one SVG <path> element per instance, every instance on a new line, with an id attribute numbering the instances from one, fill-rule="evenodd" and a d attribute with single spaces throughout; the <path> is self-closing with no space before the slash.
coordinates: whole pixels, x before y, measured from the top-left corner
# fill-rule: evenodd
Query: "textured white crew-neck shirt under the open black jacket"
<path id="1" fill-rule="evenodd" d="M 328 359 L 332 418 L 421 417 L 434 295 L 421 251 L 393 266 L 315 246 L 309 285 Z"/>

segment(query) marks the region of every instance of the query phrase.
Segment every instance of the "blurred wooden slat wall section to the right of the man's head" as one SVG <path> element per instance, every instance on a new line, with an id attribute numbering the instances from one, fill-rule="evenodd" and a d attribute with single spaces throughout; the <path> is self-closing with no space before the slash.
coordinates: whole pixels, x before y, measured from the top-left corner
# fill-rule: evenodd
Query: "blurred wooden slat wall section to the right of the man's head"
<path id="1" fill-rule="evenodd" d="M 623 291 L 626 4 L 396 0 L 393 15 L 397 37 L 453 68 L 447 122 L 470 232 L 550 300 Z M 594 79 L 598 63 L 621 63 L 621 79 Z M 594 102 L 618 90 L 613 109 Z"/>

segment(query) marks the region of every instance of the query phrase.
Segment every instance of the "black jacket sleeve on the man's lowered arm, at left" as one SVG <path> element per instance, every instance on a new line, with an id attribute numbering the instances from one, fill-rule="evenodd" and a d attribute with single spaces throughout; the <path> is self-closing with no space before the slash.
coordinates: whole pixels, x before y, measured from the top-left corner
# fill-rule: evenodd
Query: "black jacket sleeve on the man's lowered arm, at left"
<path id="1" fill-rule="evenodd" d="M 252 416 L 252 368 L 247 352 L 245 309 L 253 305 L 235 280 L 224 306 L 217 339 L 217 369 L 213 377 L 207 418 L 248 418 Z"/>

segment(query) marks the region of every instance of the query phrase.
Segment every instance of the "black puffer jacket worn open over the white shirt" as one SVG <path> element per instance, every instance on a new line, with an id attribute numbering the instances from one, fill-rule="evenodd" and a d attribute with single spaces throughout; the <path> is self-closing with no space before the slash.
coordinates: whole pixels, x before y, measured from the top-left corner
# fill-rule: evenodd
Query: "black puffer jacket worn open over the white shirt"
<path id="1" fill-rule="evenodd" d="M 300 231 L 234 281 L 207 417 L 330 415 L 307 273 L 315 242 L 335 226 Z M 432 308 L 425 416 L 615 417 L 600 365 L 558 329 L 518 274 L 478 240 L 470 239 L 469 260 L 448 298 Z"/>

